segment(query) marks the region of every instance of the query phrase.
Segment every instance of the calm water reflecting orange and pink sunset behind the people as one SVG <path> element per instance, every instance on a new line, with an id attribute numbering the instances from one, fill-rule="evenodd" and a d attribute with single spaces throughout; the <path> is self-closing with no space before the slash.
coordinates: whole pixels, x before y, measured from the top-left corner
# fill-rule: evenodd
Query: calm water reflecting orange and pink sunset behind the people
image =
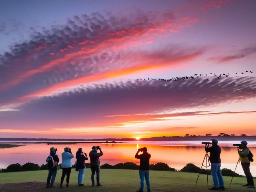
<path id="1" fill-rule="evenodd" d="M 16 141 L 17 142 L 17 141 Z M 16 143 L 10 142 L 10 143 Z M 24 142 L 24 141 L 23 141 Z M 31 141 L 29 141 L 31 142 Z M 231 144 L 239 143 L 239 141 L 219 142 L 222 147 L 221 153 L 221 168 L 229 168 L 234 170 L 238 161 L 237 148 Z M 75 153 L 78 148 L 82 147 L 83 151 L 89 153 L 93 145 L 100 145 L 104 155 L 100 158 L 101 164 L 108 163 L 111 165 L 123 162 L 139 163 L 134 155 L 138 148 L 147 147 L 151 154 L 151 163 L 164 162 L 170 167 L 181 169 L 187 163 L 194 163 L 201 167 L 205 156 L 204 145 L 200 142 L 144 142 L 134 141 L 121 144 L 97 144 L 97 143 L 80 143 L 72 145 L 47 145 L 47 144 L 29 144 L 15 148 L 0 149 L 0 168 L 6 168 L 13 163 L 24 164 L 27 162 L 37 163 L 39 165 L 45 163 L 45 159 L 49 154 L 50 147 L 58 148 L 57 154 L 61 159 L 61 153 L 65 147 L 70 147 Z M 250 142 L 248 145 L 251 152 L 256 154 L 256 142 Z M 72 159 L 72 163 L 76 159 Z M 89 163 L 89 162 L 88 162 Z M 206 162 L 205 162 L 206 163 Z M 204 164 L 205 165 L 205 164 Z M 243 174 L 241 165 L 238 165 L 237 173 Z M 251 172 L 256 176 L 256 163 L 251 164 Z"/>

